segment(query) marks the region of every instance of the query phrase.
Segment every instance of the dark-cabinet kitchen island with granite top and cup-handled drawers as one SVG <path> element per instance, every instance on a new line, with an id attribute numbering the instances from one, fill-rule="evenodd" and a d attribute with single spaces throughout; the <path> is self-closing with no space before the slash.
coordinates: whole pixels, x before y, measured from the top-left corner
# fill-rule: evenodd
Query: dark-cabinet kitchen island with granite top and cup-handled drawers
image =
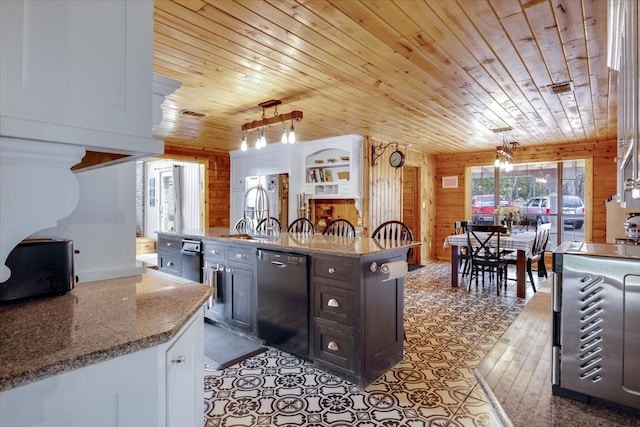
<path id="1" fill-rule="evenodd" d="M 179 242 L 185 238 L 202 242 L 204 267 L 215 271 L 216 320 L 258 336 L 258 287 L 265 279 L 258 276 L 261 253 L 306 256 L 307 283 L 299 284 L 308 289 L 306 318 L 300 319 L 308 322 L 305 358 L 361 387 L 402 360 L 404 274 L 395 270 L 406 266 L 408 250 L 420 242 L 285 232 L 259 237 L 227 228 L 158 233 L 161 270 L 167 260 L 179 262 Z M 384 273 L 385 264 L 391 273 Z"/>

